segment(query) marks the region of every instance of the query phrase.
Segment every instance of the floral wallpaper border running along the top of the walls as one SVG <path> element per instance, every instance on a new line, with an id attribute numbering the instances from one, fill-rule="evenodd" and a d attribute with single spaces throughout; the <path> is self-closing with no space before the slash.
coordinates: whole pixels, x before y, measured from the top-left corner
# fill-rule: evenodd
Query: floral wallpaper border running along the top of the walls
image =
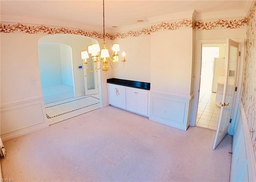
<path id="1" fill-rule="evenodd" d="M 142 28 L 138 30 L 130 30 L 122 33 L 106 33 L 106 39 L 123 39 L 127 37 L 138 37 L 142 35 L 150 35 L 150 33 L 157 31 L 177 30 L 182 28 L 193 28 L 197 30 L 212 30 L 217 28 L 234 29 L 245 26 L 248 23 L 247 18 L 241 20 L 223 20 L 219 19 L 214 22 L 199 22 L 192 19 L 183 19 L 176 22 L 162 22 L 159 24 L 151 25 L 149 28 Z M 4 24 L 0 23 L 0 33 L 43 33 L 43 34 L 59 34 L 70 33 L 75 35 L 84 35 L 91 38 L 103 38 L 103 33 L 96 31 L 86 31 L 82 29 L 68 29 L 64 27 L 50 27 L 45 25 L 26 25 L 22 23 Z"/>

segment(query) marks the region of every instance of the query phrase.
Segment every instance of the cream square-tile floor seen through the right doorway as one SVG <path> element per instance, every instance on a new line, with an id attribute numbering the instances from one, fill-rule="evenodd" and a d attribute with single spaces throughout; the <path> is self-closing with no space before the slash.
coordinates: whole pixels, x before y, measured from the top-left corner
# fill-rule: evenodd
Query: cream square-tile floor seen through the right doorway
<path id="1" fill-rule="evenodd" d="M 216 105 L 215 99 L 216 93 L 200 93 L 196 126 L 213 130 L 217 129 L 220 108 Z"/>

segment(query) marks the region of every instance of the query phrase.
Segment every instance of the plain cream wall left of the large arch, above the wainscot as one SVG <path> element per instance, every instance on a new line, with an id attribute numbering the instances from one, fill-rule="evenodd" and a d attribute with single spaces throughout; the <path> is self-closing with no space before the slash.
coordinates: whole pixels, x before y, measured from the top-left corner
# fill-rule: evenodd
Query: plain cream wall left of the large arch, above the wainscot
<path id="1" fill-rule="evenodd" d="M 1 33 L 1 103 L 42 96 L 38 62 L 40 37 L 42 35 Z"/>

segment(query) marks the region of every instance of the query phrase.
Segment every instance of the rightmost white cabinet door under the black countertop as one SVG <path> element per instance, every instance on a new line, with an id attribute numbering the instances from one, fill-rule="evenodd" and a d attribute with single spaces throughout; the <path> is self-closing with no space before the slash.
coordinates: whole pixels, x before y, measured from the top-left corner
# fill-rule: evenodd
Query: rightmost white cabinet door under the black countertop
<path id="1" fill-rule="evenodd" d="M 148 115 L 148 90 L 136 89 L 136 112 Z"/>

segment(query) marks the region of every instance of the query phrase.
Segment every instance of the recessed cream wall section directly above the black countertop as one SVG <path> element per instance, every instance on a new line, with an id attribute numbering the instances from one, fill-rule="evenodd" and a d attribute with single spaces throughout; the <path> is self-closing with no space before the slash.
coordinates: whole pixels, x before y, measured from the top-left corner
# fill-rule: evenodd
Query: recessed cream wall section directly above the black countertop
<path id="1" fill-rule="evenodd" d="M 116 39 L 120 44 L 119 67 L 122 67 L 122 51 L 127 60 L 123 70 L 114 70 L 114 78 L 150 82 L 150 35 Z"/>

